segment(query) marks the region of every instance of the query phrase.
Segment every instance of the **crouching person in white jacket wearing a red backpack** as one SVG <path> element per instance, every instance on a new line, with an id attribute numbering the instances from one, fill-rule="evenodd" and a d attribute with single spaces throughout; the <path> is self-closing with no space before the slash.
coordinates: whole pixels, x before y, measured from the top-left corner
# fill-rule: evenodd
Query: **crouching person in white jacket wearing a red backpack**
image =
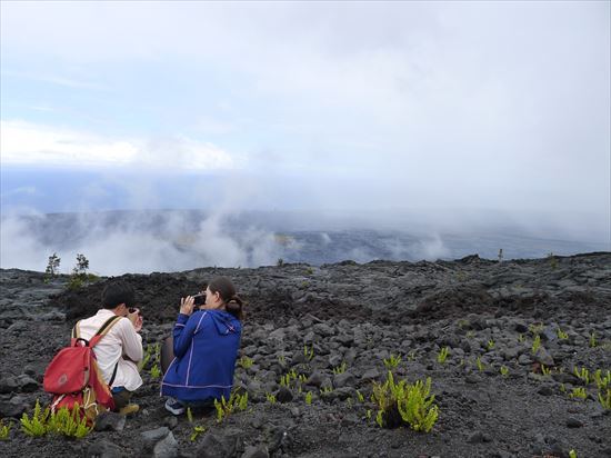
<path id="1" fill-rule="evenodd" d="M 137 412 L 139 406 L 130 404 L 131 396 L 142 385 L 138 362 L 142 359 L 142 315 L 133 308 L 133 288 L 122 280 L 111 280 L 102 291 L 102 308 L 77 326 L 79 337 L 91 339 L 104 323 L 111 328 L 93 347 L 98 368 L 108 384 L 114 409 L 123 415 Z M 118 320 L 112 318 L 122 317 Z M 108 326 L 108 325 L 107 325 Z"/>

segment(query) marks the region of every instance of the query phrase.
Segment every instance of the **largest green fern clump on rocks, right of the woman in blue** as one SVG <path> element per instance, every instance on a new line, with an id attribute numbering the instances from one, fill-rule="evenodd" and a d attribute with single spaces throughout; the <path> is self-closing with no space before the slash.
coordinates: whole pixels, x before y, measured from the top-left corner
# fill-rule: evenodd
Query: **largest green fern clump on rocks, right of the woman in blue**
<path id="1" fill-rule="evenodd" d="M 429 432 L 439 416 L 439 408 L 433 404 L 434 395 L 430 391 L 430 377 L 425 382 L 417 380 L 410 385 L 401 380 L 394 384 L 389 370 L 384 384 L 373 382 L 373 398 L 379 408 L 375 421 L 387 427 L 407 424 L 414 431 Z"/>

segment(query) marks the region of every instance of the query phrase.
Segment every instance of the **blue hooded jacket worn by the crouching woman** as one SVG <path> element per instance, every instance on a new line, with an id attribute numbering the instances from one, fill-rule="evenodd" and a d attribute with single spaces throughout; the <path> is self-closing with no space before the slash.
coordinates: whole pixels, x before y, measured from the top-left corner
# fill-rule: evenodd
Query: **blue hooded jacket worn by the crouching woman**
<path id="1" fill-rule="evenodd" d="M 179 313 L 174 359 L 161 381 L 161 394 L 182 401 L 229 399 L 242 323 L 223 310 Z"/>

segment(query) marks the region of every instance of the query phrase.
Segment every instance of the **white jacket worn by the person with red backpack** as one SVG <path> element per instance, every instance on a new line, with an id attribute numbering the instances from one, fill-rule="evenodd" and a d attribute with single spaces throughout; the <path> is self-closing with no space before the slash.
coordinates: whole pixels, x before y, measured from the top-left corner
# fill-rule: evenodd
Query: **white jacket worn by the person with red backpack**
<path id="1" fill-rule="evenodd" d="M 80 337 L 87 340 L 91 339 L 101 326 L 112 317 L 114 317 L 112 310 L 100 309 L 91 318 L 81 320 L 79 322 Z M 98 367 L 107 382 L 112 377 L 114 366 L 117 362 L 119 364 L 111 388 L 126 387 L 127 390 L 134 391 L 142 385 L 138 367 L 136 362 L 132 362 L 142 359 L 142 336 L 136 332 L 128 318 L 121 318 L 116 322 L 110 331 L 93 347 L 93 352 L 98 358 Z M 123 359 L 123 356 L 131 359 L 131 361 Z"/>

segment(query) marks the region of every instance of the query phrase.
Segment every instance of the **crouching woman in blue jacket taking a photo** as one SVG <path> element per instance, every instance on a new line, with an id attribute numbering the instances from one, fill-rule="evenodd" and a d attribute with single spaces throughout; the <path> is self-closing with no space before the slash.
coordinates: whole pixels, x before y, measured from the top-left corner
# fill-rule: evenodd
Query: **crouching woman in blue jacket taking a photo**
<path id="1" fill-rule="evenodd" d="M 227 277 L 217 277 L 206 289 L 199 310 L 194 298 L 180 301 L 173 330 L 173 354 L 161 381 L 161 395 L 169 396 L 166 409 L 173 415 L 189 406 L 206 406 L 229 399 L 236 358 L 242 335 L 243 303 Z"/>

